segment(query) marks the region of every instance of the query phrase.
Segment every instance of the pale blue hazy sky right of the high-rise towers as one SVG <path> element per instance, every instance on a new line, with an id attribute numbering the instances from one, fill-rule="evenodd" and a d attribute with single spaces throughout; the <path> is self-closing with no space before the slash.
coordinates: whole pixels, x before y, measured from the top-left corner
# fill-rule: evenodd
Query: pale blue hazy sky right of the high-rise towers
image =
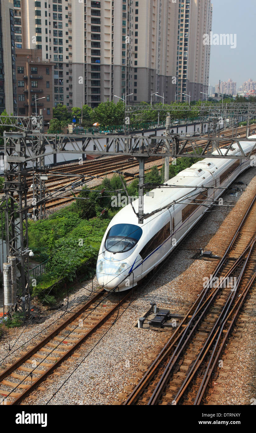
<path id="1" fill-rule="evenodd" d="M 211 45 L 209 83 L 232 78 L 237 90 L 243 81 L 256 81 L 256 0 L 211 0 L 212 32 L 237 35 L 237 48 Z"/>

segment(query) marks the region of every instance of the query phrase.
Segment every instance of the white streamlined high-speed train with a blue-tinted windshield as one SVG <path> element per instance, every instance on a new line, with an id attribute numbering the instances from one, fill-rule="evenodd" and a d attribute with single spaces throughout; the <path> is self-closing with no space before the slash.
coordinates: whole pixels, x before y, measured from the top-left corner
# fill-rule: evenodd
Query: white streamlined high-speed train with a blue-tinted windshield
<path id="1" fill-rule="evenodd" d="M 256 139 L 256 135 L 249 138 Z M 240 145 L 248 155 L 255 143 L 241 141 Z M 218 155 L 218 151 L 212 155 Z M 237 144 L 228 155 L 241 155 Z M 251 161 L 205 158 L 180 171 L 166 182 L 175 187 L 156 188 L 144 195 L 144 214 L 165 209 L 143 224 L 138 224 L 134 213 L 138 213 L 138 199 L 132 202 L 133 207 L 123 207 L 112 218 L 101 242 L 96 266 L 99 284 L 107 291 L 136 286 L 172 252 Z"/>

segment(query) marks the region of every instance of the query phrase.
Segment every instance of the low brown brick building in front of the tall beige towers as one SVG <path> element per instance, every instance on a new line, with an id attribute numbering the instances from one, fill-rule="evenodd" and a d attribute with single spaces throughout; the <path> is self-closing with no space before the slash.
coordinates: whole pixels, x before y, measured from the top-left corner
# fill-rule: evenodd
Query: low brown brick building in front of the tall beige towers
<path id="1" fill-rule="evenodd" d="M 53 65 L 50 60 L 42 61 L 42 50 L 16 50 L 19 116 L 36 116 L 42 109 L 44 121 L 52 119 Z"/>

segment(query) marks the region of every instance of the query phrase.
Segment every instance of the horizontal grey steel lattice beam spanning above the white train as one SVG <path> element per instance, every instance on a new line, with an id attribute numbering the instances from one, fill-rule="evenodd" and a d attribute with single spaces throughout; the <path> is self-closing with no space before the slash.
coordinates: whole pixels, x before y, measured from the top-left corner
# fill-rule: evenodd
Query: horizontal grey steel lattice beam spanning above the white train
<path id="1" fill-rule="evenodd" d="M 18 133 L 17 133 L 18 134 Z M 15 133 L 5 133 L 6 139 L 10 142 L 16 141 Z M 172 158 L 208 157 L 213 151 L 218 154 L 211 155 L 211 158 L 250 159 L 256 149 L 254 145 L 249 155 L 245 155 L 240 142 L 256 142 L 255 139 L 247 138 L 224 138 L 224 137 L 191 137 L 182 135 L 158 136 L 112 136 L 107 138 L 107 144 L 102 144 L 102 136 L 96 135 L 44 135 L 26 134 L 20 141 L 27 149 L 27 156 L 24 162 L 40 160 L 45 156 L 58 153 L 73 153 L 88 155 L 127 155 L 136 157 L 166 156 Z M 37 145 L 34 145 L 34 141 Z M 225 142 L 227 145 L 225 146 Z M 31 147 L 29 145 L 31 143 Z M 241 156 L 227 155 L 232 145 L 237 143 Z M 224 146 L 224 147 L 223 147 Z M 92 150 L 94 149 L 94 150 Z"/>

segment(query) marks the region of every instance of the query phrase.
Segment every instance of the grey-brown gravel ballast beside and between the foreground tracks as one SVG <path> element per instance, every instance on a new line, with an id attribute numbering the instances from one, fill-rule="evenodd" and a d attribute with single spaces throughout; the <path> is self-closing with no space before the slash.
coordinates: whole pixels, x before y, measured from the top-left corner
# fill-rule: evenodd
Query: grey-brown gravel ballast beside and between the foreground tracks
<path id="1" fill-rule="evenodd" d="M 118 320 L 114 326 L 107 333 L 105 329 L 101 335 L 98 333 L 90 337 L 77 351 L 80 353 L 80 357 L 74 357 L 71 362 L 65 361 L 65 368 L 59 367 L 56 370 L 60 373 L 59 376 L 49 376 L 53 382 L 47 383 L 45 391 L 33 392 L 33 404 L 46 404 L 64 381 L 66 381 L 65 384 L 49 404 L 112 404 L 125 387 L 134 385 L 130 379 L 136 377 L 136 373 L 139 372 L 139 365 L 150 365 L 150 359 L 148 359 L 150 352 L 158 352 L 159 347 L 163 344 L 162 333 L 152 330 L 138 330 L 134 328 L 134 323 L 149 309 L 150 301 L 155 301 L 158 307 L 170 308 L 174 311 L 182 309 L 186 311 L 195 301 L 198 293 L 202 290 L 202 278 L 211 274 L 215 264 L 204 260 L 194 260 L 193 255 L 200 248 L 210 249 L 217 255 L 223 254 L 246 212 L 246 206 L 249 205 L 248 200 L 253 194 L 256 194 L 256 178 L 253 178 L 255 174 L 255 168 L 250 168 L 237 179 L 244 182 L 244 184 L 236 185 L 242 191 L 245 190 L 246 184 L 251 181 L 245 193 L 240 191 L 237 196 L 231 196 L 227 191 L 223 194 L 224 204 L 230 202 L 229 205 L 237 204 L 237 206 L 235 208 L 218 207 L 217 209 L 214 207 L 176 249 L 176 252 L 170 257 L 170 261 L 167 261 L 157 275 L 151 280 L 148 278 L 148 281 L 143 281 L 135 292 L 131 305 L 128 306 L 128 302 L 126 302 L 120 307 Z M 220 230 L 218 231 L 218 229 Z M 91 281 L 87 281 L 83 287 L 82 284 L 80 287 L 77 285 L 77 290 L 69 297 L 69 310 L 72 306 L 85 300 L 86 295 L 90 293 L 91 284 Z M 96 290 L 96 288 L 97 281 L 94 278 L 93 289 Z M 49 316 L 44 313 L 41 317 L 41 323 L 27 325 L 25 330 L 22 327 L 13 330 L 10 336 L 10 346 L 13 347 L 23 330 L 24 332 L 13 349 L 21 344 L 27 346 L 26 342 L 30 338 L 44 330 L 46 326 L 54 323 L 61 314 L 63 311 L 51 313 Z M 46 333 L 49 330 L 50 328 Z M 253 341 L 255 339 L 255 326 L 249 326 L 249 332 L 248 338 Z M 103 336 L 104 333 L 106 333 L 105 336 Z M 102 336 L 103 338 L 93 349 Z M 2 342 L 4 344 L 1 344 L 1 359 L 8 353 L 8 336 L 4 336 Z M 248 374 L 252 374 L 253 365 L 255 366 L 255 358 L 253 358 L 255 355 L 253 354 L 253 344 L 249 344 L 247 338 L 242 339 L 240 345 L 241 352 L 246 354 L 246 358 L 243 358 L 239 364 L 240 369 L 243 369 L 243 374 L 234 373 L 233 378 L 230 377 L 230 389 L 227 387 L 220 404 L 250 404 L 251 391 L 249 392 L 246 387 L 250 381 L 254 381 L 255 386 L 255 378 L 250 379 L 248 376 Z M 86 356 L 87 354 L 88 356 Z M 17 350 L 14 355 L 18 356 L 19 351 Z M 85 356 L 86 358 L 81 362 Z M 12 356 L 8 357 L 6 362 L 11 362 L 11 359 Z M 148 362 L 145 362 L 145 359 Z M 80 366 L 78 366 L 79 363 L 81 363 Z M 234 360 L 235 363 L 236 360 Z M 77 366 L 76 371 L 68 378 Z M 235 386 L 232 381 L 236 381 Z M 45 387 L 45 382 L 42 386 Z M 242 390 L 241 393 L 236 394 L 236 387 Z M 235 399 L 234 393 L 236 394 Z M 247 394 L 249 397 L 246 397 Z M 29 404 L 31 399 L 27 399 L 25 402 Z"/>

